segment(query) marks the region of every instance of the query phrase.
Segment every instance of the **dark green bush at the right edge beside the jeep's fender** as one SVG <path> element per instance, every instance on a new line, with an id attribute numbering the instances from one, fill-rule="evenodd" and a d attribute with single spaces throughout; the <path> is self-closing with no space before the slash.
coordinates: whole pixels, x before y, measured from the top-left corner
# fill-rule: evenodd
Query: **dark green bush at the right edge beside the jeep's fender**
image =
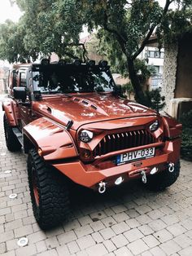
<path id="1" fill-rule="evenodd" d="M 183 125 L 181 157 L 192 161 L 192 110 L 183 113 L 180 121 Z"/>

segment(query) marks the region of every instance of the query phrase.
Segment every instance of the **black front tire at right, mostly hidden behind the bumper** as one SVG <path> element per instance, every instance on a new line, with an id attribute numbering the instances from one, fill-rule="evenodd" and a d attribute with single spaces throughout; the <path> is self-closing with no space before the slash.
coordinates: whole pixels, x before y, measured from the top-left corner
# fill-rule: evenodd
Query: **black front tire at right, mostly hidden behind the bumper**
<path id="1" fill-rule="evenodd" d="M 175 164 L 173 172 L 169 172 L 168 168 L 158 174 L 147 176 L 147 182 L 145 187 L 151 191 L 162 191 L 165 188 L 170 187 L 177 181 L 180 174 L 180 161 Z"/>

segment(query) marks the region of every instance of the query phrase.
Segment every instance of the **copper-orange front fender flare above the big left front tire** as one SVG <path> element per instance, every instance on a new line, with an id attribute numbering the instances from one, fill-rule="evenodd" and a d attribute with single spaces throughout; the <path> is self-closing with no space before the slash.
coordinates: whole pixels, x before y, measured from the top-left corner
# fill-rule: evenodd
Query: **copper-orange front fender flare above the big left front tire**
<path id="1" fill-rule="evenodd" d="M 23 135 L 24 152 L 35 147 L 46 161 L 78 156 L 68 130 L 46 117 L 41 117 L 24 126 Z"/>

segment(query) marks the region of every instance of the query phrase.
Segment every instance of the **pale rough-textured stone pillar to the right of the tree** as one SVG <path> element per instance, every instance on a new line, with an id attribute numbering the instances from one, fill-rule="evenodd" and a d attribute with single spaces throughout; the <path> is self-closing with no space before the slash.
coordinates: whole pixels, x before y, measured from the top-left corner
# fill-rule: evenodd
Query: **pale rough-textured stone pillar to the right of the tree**
<path id="1" fill-rule="evenodd" d="M 168 111 L 170 107 L 170 99 L 173 99 L 175 97 L 175 85 L 176 85 L 176 74 L 177 74 L 177 53 L 178 53 L 177 43 L 168 44 L 165 46 L 162 95 L 165 96 L 166 111 Z"/>

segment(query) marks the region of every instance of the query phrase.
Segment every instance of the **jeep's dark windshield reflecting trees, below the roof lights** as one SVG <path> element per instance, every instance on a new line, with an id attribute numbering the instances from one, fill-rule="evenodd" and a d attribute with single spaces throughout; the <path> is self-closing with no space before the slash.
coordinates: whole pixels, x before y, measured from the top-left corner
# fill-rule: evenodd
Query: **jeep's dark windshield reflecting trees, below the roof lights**
<path id="1" fill-rule="evenodd" d="M 33 90 L 46 93 L 107 92 L 115 84 L 109 68 L 86 64 L 49 64 L 33 66 Z"/>

